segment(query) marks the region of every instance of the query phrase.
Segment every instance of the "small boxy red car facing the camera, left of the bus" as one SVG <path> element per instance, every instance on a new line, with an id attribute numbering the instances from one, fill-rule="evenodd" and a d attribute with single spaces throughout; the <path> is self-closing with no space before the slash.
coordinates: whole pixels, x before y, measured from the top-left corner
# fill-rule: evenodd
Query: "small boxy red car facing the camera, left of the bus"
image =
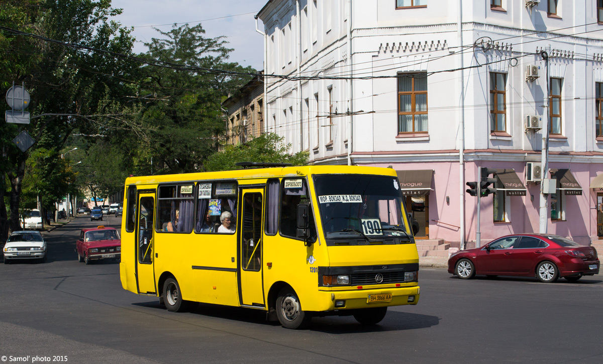
<path id="1" fill-rule="evenodd" d="M 115 228 L 97 226 L 81 229 L 75 242 L 78 261 L 92 263 L 93 260 L 121 260 L 121 238 Z"/>

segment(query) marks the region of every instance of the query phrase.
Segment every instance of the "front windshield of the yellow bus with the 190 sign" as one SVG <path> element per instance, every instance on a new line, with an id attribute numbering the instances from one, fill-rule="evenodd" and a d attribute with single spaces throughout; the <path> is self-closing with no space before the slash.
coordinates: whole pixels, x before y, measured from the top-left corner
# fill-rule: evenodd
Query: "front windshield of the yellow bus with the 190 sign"
<path id="1" fill-rule="evenodd" d="M 403 219 L 402 192 L 395 177 L 366 174 L 314 176 L 325 238 L 356 236 L 410 240 Z"/>

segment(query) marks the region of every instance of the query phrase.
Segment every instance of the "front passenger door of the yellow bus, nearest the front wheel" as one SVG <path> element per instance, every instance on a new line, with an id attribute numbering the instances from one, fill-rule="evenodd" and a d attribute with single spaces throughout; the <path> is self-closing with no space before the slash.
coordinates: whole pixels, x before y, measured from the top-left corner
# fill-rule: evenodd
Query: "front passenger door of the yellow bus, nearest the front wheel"
<path id="1" fill-rule="evenodd" d="M 239 297 L 241 305 L 265 307 L 262 284 L 262 190 L 243 190 L 239 213 Z"/>

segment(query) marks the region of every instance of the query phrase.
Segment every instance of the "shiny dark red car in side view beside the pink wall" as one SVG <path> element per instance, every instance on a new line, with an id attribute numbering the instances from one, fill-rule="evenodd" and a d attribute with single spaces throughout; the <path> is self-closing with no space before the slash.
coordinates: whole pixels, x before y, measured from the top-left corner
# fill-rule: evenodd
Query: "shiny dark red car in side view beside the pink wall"
<path id="1" fill-rule="evenodd" d="M 536 276 L 545 283 L 559 277 L 574 282 L 598 274 L 599 266 L 594 247 L 551 234 L 507 235 L 448 259 L 448 273 L 462 279 L 476 274 Z"/>

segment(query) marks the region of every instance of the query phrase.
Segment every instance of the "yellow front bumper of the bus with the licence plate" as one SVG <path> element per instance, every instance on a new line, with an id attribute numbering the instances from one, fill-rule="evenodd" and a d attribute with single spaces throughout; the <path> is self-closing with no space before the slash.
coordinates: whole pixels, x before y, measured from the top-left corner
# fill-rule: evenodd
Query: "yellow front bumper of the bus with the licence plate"
<path id="1" fill-rule="evenodd" d="M 325 311 L 354 310 L 356 308 L 416 305 L 420 287 L 390 287 L 379 289 L 356 289 L 322 291 L 329 295 L 330 304 Z"/>

